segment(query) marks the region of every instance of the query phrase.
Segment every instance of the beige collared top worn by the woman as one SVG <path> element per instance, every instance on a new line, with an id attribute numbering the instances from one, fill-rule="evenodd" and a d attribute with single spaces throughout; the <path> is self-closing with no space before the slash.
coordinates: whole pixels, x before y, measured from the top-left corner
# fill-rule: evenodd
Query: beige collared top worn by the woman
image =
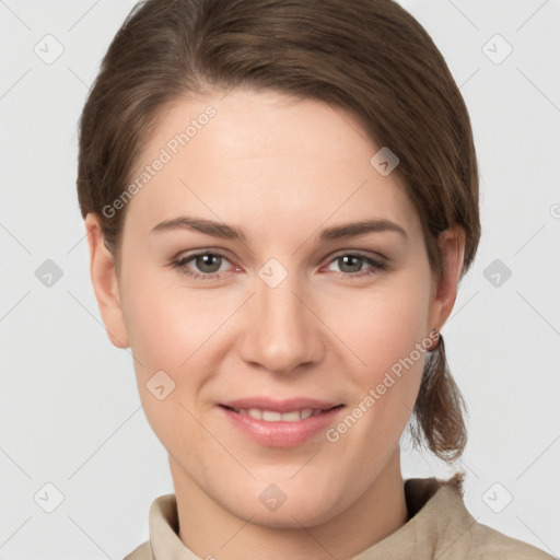
<path id="1" fill-rule="evenodd" d="M 478 523 L 463 501 L 462 474 L 405 481 L 408 521 L 351 560 L 553 560 L 540 549 Z M 150 540 L 125 560 L 200 560 L 177 536 L 175 494 L 150 508 Z"/>

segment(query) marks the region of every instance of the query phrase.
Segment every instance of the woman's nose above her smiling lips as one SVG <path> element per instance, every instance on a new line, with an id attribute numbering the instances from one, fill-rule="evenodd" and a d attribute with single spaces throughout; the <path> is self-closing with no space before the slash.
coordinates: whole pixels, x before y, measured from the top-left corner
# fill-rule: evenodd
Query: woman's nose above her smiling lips
<path id="1" fill-rule="evenodd" d="M 296 275 L 275 288 L 256 278 L 255 291 L 240 346 L 245 362 L 279 374 L 318 363 L 325 349 L 323 323 Z"/>

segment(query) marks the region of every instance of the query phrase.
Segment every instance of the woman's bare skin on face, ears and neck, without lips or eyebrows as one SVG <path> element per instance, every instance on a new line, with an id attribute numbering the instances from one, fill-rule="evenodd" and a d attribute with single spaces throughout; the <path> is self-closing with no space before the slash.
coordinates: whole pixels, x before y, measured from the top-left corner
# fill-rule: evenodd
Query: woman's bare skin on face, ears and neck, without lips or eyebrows
<path id="1" fill-rule="evenodd" d="M 279 93 L 222 97 L 162 113 L 142 165 L 208 105 L 217 110 L 128 202 L 118 273 L 98 217 L 86 217 L 93 287 L 112 342 L 135 355 L 147 418 L 168 452 L 185 546 L 219 560 L 349 559 L 407 520 L 399 439 L 423 353 L 336 442 L 322 432 L 294 446 L 261 445 L 220 404 L 323 399 L 345 405 L 336 428 L 447 319 L 464 232 L 441 235 L 446 273 L 435 284 L 419 217 L 397 174 L 370 164 L 381 147 L 358 121 Z M 225 223 L 245 240 L 152 231 L 183 215 Z M 376 219 L 406 236 L 319 240 L 324 229 Z M 188 260 L 195 250 L 210 259 Z M 217 253 L 224 257 L 212 260 Z M 273 288 L 259 277 L 269 259 L 282 268 L 267 270 L 287 273 Z M 175 383 L 162 400 L 147 388 L 158 371 Z M 276 511 L 259 500 L 272 483 L 285 495 Z"/>

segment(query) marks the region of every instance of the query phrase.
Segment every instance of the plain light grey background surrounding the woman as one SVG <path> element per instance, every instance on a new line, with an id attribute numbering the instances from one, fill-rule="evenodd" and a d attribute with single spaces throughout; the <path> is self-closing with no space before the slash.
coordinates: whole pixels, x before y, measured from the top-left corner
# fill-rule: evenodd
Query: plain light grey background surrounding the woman
<path id="1" fill-rule="evenodd" d="M 122 558 L 148 538 L 153 499 L 173 491 L 131 357 L 101 323 L 74 187 L 78 117 L 133 3 L 0 1 L 4 560 Z M 482 240 L 443 329 L 470 412 L 456 465 L 465 502 L 479 523 L 558 557 L 560 1 L 401 3 L 460 86 L 481 173 Z M 452 470 L 404 439 L 406 478 Z"/>

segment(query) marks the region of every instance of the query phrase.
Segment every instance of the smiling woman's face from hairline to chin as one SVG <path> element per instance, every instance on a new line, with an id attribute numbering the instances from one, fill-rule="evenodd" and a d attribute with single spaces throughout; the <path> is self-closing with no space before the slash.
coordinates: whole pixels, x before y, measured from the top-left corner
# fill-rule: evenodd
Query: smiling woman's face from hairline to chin
<path id="1" fill-rule="evenodd" d="M 454 295 L 439 299 L 417 212 L 349 114 L 222 97 L 161 115 L 127 205 L 119 302 L 102 313 L 131 347 L 177 492 L 318 524 L 398 469 Z"/>

